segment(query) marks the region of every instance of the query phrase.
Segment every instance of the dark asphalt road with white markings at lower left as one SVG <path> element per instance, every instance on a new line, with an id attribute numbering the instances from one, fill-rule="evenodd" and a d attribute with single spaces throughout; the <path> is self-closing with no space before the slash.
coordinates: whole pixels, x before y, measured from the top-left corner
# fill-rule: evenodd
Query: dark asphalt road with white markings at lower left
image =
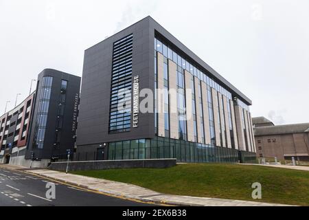
<path id="1" fill-rule="evenodd" d="M 47 199 L 47 182 L 54 182 L 56 199 Z M 150 206 L 67 186 L 17 170 L 0 168 L 0 206 Z"/>

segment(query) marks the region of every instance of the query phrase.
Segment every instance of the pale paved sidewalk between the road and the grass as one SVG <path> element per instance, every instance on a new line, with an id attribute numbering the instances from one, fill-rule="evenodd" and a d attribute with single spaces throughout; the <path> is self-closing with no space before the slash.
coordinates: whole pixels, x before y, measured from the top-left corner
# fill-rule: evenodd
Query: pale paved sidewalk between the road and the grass
<path id="1" fill-rule="evenodd" d="M 62 181 L 74 186 L 87 188 L 89 190 L 104 192 L 111 196 L 123 197 L 124 199 L 136 199 L 144 202 L 161 203 L 174 206 L 288 206 L 276 203 L 242 201 L 233 199 L 165 195 L 132 184 L 124 184 L 117 181 L 85 177 L 81 175 L 66 174 L 54 170 L 29 169 L 23 166 L 13 166 L 8 164 L 0 165 L 0 168 L 21 170 L 27 173 Z"/>

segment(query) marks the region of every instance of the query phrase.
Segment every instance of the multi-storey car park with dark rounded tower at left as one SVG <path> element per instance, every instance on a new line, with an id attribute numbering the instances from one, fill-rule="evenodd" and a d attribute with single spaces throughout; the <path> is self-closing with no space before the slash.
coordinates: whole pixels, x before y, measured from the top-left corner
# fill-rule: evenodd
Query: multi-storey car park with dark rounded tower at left
<path id="1" fill-rule="evenodd" d="M 36 91 L 1 116 L 3 163 L 47 166 L 74 151 L 80 77 L 44 69 Z"/>

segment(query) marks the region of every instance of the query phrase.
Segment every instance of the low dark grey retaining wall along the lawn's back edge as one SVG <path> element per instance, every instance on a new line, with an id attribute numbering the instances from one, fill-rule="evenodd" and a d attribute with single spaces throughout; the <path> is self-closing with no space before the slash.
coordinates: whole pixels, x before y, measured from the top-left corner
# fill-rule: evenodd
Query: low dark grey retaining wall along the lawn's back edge
<path id="1" fill-rule="evenodd" d="M 167 168 L 176 166 L 176 159 L 123 159 L 69 162 L 69 171 L 106 170 L 114 168 Z M 51 170 L 65 171 L 67 162 L 54 162 Z"/>

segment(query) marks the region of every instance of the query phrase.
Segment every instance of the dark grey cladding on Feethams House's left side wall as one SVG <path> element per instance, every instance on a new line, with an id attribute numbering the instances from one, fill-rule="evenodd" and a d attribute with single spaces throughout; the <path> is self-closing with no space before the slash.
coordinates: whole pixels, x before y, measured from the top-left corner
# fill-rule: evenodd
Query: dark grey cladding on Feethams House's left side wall
<path id="1" fill-rule="evenodd" d="M 111 99 L 111 71 L 113 43 L 133 34 L 133 74 L 139 76 L 139 91 L 154 89 L 153 47 L 149 21 L 144 19 L 122 32 L 89 48 L 84 54 L 82 94 L 77 132 L 77 145 L 155 137 L 153 113 L 139 114 L 139 126 L 130 132 L 108 133 L 109 103 Z M 80 151 L 81 148 L 78 148 Z"/>

